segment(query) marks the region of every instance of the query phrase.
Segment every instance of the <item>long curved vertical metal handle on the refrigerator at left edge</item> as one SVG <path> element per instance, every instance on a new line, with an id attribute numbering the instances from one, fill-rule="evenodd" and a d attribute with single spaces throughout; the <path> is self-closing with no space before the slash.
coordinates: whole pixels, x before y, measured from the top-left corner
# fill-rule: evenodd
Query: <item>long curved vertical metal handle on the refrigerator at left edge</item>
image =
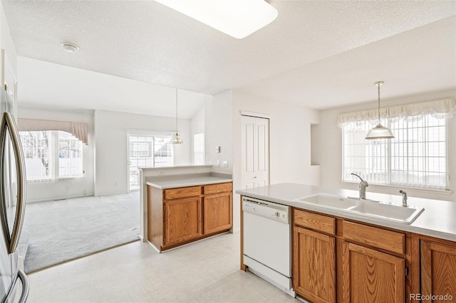
<path id="1" fill-rule="evenodd" d="M 9 253 L 13 253 L 17 245 L 19 244 L 19 238 L 21 236 L 22 223 L 24 222 L 24 213 L 26 207 L 26 173 L 25 173 L 25 161 L 24 153 L 22 152 L 21 139 L 19 137 L 19 132 L 16 127 L 16 122 L 14 122 L 13 116 L 9 112 L 4 112 L 1 116 L 0 121 L 0 143 L 1 143 L 1 166 L 4 167 L 4 149 L 6 147 L 6 131 L 8 130 L 9 136 L 11 137 L 11 142 L 13 144 L 14 156 L 16 158 L 16 171 L 17 171 L 17 204 L 16 204 L 16 216 L 14 218 L 14 227 L 11 233 L 11 240 L 9 241 Z M 4 174 L 4 171 L 0 171 L 0 174 Z M 4 193 L 5 184 L 1 184 L 2 194 Z M 1 197 L 4 198 L 4 197 Z M 6 218 L 4 218 L 6 220 Z M 6 224 L 6 230 L 9 230 L 8 223 Z M 4 226 L 5 227 L 5 226 Z M 9 234 L 9 233 L 7 233 Z"/>

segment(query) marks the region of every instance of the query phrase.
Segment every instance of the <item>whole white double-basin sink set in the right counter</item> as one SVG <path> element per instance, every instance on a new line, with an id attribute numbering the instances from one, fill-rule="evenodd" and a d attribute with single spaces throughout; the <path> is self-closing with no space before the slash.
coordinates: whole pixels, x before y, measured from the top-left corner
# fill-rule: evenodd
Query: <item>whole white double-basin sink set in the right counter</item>
<path id="1" fill-rule="evenodd" d="M 333 196 L 327 193 L 318 193 L 314 196 L 298 198 L 295 201 L 404 224 L 412 223 L 425 210 L 418 206 L 402 206 L 380 201 Z"/>

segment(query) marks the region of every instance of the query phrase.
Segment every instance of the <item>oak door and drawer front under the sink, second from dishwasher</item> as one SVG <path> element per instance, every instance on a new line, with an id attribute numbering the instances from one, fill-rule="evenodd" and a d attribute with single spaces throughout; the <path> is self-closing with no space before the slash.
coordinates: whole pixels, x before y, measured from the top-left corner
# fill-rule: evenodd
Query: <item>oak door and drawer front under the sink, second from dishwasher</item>
<path id="1" fill-rule="evenodd" d="M 343 301 L 404 302 L 405 234 L 343 220 L 342 235 Z"/>

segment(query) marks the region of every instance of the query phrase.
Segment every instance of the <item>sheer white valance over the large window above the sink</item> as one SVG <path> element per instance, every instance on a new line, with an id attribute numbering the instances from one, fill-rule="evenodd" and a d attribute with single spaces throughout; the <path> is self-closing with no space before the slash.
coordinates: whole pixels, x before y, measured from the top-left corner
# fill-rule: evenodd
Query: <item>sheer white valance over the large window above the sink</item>
<path id="1" fill-rule="evenodd" d="M 456 101 L 454 99 L 443 99 L 429 102 L 414 103 L 409 105 L 398 105 L 393 107 L 380 108 L 380 119 L 405 119 L 414 121 L 425 115 L 431 115 L 437 119 L 449 119 L 456 113 Z M 348 122 L 368 121 L 376 124 L 378 121 L 378 109 L 361 110 L 359 112 L 348 112 L 337 117 L 337 124 L 343 127 Z"/>

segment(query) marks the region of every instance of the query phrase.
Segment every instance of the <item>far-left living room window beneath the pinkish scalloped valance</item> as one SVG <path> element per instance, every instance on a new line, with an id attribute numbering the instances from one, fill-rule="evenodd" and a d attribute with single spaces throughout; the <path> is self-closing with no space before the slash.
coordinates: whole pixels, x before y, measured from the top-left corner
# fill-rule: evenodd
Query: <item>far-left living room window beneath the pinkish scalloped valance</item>
<path id="1" fill-rule="evenodd" d="M 19 132 L 27 181 L 82 178 L 83 144 L 61 131 Z"/>

